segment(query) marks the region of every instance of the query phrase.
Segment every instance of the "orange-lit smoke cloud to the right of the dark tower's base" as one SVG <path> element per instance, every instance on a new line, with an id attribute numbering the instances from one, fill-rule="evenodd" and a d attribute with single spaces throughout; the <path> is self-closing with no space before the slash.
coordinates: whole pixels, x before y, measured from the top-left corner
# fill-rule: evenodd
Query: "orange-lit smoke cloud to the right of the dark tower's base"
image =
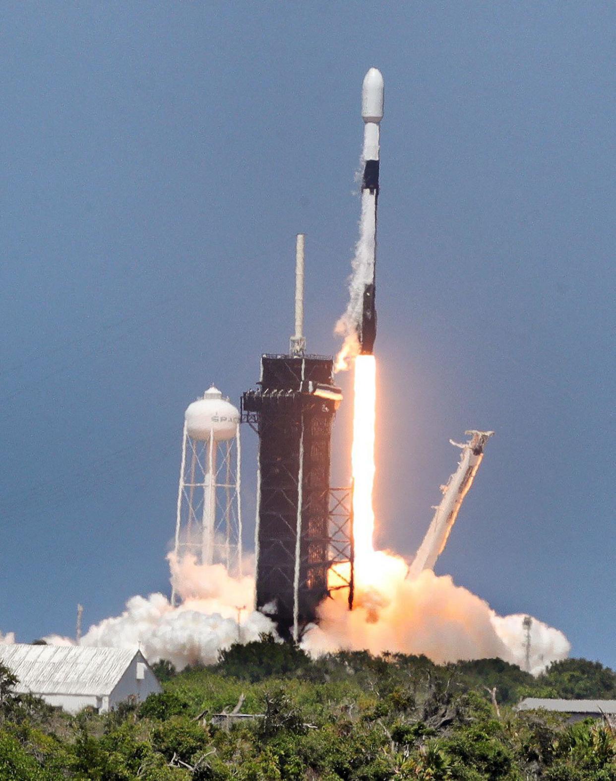
<path id="1" fill-rule="evenodd" d="M 523 615 L 497 615 L 450 576 L 429 569 L 409 580 L 407 562 L 384 551 L 365 567 L 356 572 L 352 611 L 342 591 L 321 604 L 320 624 L 304 638 L 312 654 L 366 648 L 373 654 L 426 654 L 437 663 L 498 657 L 525 668 Z M 532 620 L 531 672 L 566 658 L 569 650 L 563 633 Z"/>

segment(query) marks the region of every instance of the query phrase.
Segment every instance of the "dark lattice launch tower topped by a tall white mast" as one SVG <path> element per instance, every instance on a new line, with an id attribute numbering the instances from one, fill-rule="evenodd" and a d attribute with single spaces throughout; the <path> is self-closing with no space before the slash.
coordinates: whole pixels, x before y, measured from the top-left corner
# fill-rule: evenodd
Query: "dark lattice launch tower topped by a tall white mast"
<path id="1" fill-rule="evenodd" d="M 262 355 L 258 390 L 242 396 L 242 418 L 259 437 L 256 606 L 272 614 L 282 637 L 294 640 L 315 620 L 335 563 L 351 564 L 342 584 L 351 604 L 353 558 L 350 492 L 329 487 L 331 431 L 342 394 L 333 384 L 333 358 L 304 354 L 301 234 L 296 259 L 290 354 Z"/>

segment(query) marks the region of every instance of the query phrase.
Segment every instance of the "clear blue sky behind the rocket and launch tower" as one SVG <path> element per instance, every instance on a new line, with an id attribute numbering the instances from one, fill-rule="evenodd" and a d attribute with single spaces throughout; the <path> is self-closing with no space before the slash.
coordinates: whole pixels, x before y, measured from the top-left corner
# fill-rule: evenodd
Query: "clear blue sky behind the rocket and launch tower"
<path id="1" fill-rule="evenodd" d="M 616 665 L 615 27 L 608 2 L 5 2 L 0 629 L 168 590 L 183 409 L 287 348 L 298 231 L 336 351 L 378 66 L 379 542 L 411 554 L 449 437 L 496 430 L 437 571 Z M 247 430 L 248 518 L 254 458 Z"/>

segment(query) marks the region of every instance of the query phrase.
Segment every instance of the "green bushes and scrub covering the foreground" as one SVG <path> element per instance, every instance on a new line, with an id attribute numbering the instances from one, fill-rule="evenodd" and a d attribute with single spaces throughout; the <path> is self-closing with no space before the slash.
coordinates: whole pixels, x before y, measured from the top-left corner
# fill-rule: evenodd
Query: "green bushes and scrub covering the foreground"
<path id="1" fill-rule="evenodd" d="M 584 659 L 535 679 L 500 659 L 312 662 L 264 637 L 210 668 L 156 671 L 162 694 L 72 717 L 16 695 L 0 665 L 0 779 L 616 781 L 613 726 L 511 708 L 531 695 L 616 698 L 616 673 Z M 255 719 L 212 720 L 233 708 Z"/>

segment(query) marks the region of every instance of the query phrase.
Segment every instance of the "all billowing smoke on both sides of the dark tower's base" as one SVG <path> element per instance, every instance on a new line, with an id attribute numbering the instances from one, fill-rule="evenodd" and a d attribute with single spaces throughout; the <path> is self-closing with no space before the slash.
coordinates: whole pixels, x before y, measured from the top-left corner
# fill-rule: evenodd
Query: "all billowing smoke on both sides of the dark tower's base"
<path id="1" fill-rule="evenodd" d="M 497 615 L 490 605 L 450 576 L 425 570 L 415 580 L 408 564 L 383 551 L 374 554 L 369 571 L 356 573 L 353 611 L 343 591 L 334 591 L 319 610 L 320 625 L 308 629 L 303 647 L 312 655 L 340 649 L 368 649 L 426 654 L 433 662 L 499 657 L 525 668 L 524 615 Z M 91 626 L 82 645 L 141 647 L 149 662 L 169 659 L 178 669 L 213 664 L 231 644 L 276 634 L 267 616 L 251 609 L 252 576 L 230 577 L 223 565 L 198 565 L 193 557 L 169 556 L 172 582 L 182 603 L 174 608 L 163 594 L 131 597 L 125 610 Z M 50 636 L 51 644 L 73 644 Z M 568 656 L 564 634 L 532 619 L 530 670 L 537 674 Z M 0 643 L 13 643 L 12 633 Z"/>

